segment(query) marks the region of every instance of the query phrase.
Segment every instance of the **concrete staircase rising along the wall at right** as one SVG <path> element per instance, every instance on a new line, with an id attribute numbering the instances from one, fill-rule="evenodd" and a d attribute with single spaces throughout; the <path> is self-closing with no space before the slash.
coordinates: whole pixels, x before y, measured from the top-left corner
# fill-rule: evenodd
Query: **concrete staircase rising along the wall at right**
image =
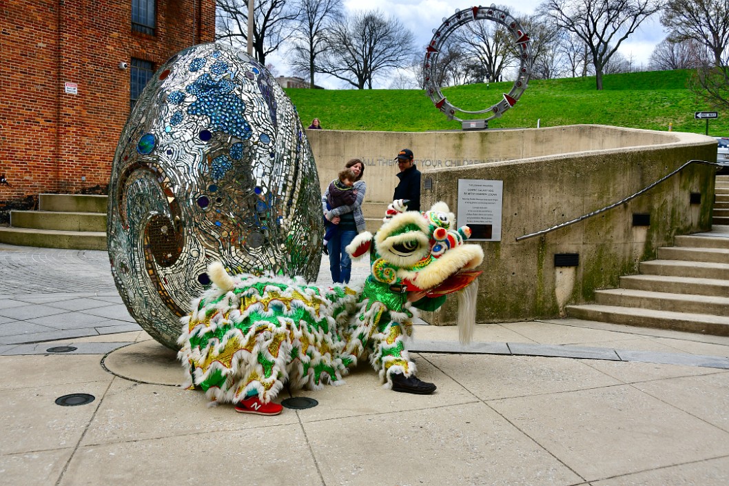
<path id="1" fill-rule="evenodd" d="M 717 177 L 712 231 L 677 236 L 674 247 L 658 248 L 658 260 L 639 264 L 639 275 L 597 290 L 595 304 L 567 306 L 567 315 L 729 336 L 729 215 L 717 215 L 722 210 L 729 211 L 729 176 Z"/>

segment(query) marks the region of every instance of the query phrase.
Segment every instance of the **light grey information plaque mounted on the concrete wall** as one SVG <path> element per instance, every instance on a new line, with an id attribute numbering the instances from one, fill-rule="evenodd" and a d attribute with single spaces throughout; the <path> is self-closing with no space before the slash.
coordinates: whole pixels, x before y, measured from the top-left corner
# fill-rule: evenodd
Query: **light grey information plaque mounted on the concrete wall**
<path id="1" fill-rule="evenodd" d="M 504 181 L 458 180 L 459 226 L 471 228 L 470 241 L 500 242 Z"/>

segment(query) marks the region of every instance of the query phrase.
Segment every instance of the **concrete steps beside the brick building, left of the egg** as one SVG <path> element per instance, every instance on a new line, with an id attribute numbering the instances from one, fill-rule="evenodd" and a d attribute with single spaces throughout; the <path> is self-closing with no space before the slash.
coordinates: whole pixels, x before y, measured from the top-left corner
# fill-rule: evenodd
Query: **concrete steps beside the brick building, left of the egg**
<path id="1" fill-rule="evenodd" d="M 40 194 L 38 211 L 11 211 L 0 243 L 28 247 L 106 250 L 107 196 Z"/>

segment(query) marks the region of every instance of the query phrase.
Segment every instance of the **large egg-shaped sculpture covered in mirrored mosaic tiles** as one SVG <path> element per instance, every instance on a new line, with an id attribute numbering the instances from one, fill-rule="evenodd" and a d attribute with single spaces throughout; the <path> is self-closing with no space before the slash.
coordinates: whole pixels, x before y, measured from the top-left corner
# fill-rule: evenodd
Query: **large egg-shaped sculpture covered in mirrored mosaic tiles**
<path id="1" fill-rule="evenodd" d="M 264 66 L 216 44 L 174 55 L 137 101 L 109 183 L 109 259 L 130 314 L 177 349 L 211 261 L 316 279 L 320 198 L 296 109 Z"/>

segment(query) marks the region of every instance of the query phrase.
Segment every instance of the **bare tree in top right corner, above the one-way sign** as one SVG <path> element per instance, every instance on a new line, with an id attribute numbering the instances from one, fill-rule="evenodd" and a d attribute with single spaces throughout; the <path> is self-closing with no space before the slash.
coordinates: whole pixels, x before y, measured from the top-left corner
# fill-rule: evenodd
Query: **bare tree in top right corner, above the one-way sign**
<path id="1" fill-rule="evenodd" d="M 714 66 L 722 65 L 729 45 L 729 0 L 668 0 L 660 23 L 671 29 L 671 41 L 700 42 L 712 51 Z"/>

